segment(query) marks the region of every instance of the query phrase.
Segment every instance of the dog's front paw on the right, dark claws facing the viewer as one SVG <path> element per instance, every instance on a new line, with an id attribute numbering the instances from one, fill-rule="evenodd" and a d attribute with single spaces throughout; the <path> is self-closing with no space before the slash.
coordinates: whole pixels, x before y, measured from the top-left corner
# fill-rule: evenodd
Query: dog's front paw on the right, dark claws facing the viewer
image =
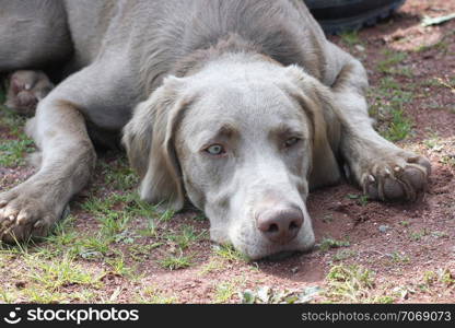
<path id="1" fill-rule="evenodd" d="M 362 165 L 360 184 L 371 199 L 416 200 L 424 191 L 431 164 L 423 156 L 397 150 Z"/>

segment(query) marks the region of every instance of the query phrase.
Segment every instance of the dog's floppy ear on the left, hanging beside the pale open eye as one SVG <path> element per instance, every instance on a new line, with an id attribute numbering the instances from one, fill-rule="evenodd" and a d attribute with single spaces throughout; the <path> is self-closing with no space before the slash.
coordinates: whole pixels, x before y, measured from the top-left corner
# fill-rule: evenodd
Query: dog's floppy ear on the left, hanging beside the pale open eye
<path id="1" fill-rule="evenodd" d="M 185 201 L 174 148 L 176 127 L 188 106 L 184 83 L 183 79 L 166 78 L 135 108 L 122 138 L 129 162 L 141 178 L 141 199 L 173 210 L 180 210 Z"/>

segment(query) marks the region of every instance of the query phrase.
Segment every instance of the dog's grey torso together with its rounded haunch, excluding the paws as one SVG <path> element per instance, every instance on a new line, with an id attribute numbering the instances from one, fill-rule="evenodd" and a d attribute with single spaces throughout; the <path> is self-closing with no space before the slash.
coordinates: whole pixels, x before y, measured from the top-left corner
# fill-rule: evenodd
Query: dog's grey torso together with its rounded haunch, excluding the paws
<path id="1" fill-rule="evenodd" d="M 139 89 L 147 95 L 185 57 L 235 35 L 246 47 L 324 78 L 324 35 L 298 0 L 66 0 L 26 7 L 4 1 L 1 7 L 0 44 L 7 46 L 0 71 L 66 60 L 68 74 L 110 56 L 144 82 Z"/>

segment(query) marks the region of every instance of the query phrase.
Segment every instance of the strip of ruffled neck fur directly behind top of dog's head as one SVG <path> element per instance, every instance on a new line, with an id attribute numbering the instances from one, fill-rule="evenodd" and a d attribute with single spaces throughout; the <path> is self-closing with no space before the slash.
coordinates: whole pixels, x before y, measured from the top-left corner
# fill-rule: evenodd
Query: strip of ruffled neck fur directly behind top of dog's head
<path id="1" fill-rule="evenodd" d="M 269 61 L 281 66 L 278 61 L 265 55 L 257 45 L 248 43 L 237 34 L 230 34 L 211 47 L 197 49 L 182 58 L 171 72 L 176 77 L 188 77 L 201 71 L 208 63 L 232 55 L 242 55 L 254 61 Z"/>

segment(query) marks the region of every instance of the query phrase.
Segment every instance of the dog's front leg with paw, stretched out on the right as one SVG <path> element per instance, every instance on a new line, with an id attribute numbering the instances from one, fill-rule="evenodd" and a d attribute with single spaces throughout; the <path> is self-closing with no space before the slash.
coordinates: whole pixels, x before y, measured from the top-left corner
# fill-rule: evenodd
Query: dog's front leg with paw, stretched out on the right
<path id="1" fill-rule="evenodd" d="M 430 162 L 396 147 L 373 129 L 364 97 L 365 70 L 350 55 L 330 46 L 339 65 L 332 92 L 342 129 L 340 151 L 351 177 L 372 199 L 415 200 L 425 189 Z"/>

